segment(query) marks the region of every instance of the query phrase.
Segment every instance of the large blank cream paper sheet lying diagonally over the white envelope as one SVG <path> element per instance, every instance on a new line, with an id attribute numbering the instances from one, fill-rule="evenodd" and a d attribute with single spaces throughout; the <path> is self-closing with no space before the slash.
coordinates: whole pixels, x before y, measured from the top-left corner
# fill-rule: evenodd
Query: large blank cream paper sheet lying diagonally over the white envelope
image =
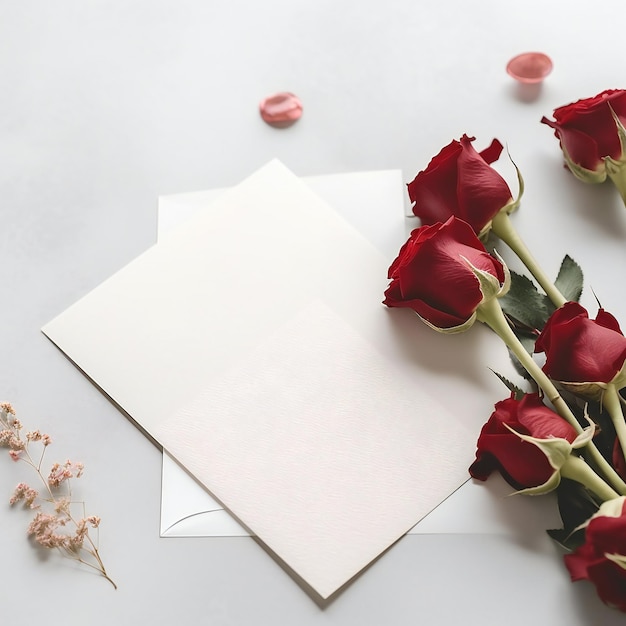
<path id="1" fill-rule="evenodd" d="M 502 395 L 488 335 L 382 306 L 388 265 L 274 161 L 43 330 L 327 598 L 466 480 Z"/>

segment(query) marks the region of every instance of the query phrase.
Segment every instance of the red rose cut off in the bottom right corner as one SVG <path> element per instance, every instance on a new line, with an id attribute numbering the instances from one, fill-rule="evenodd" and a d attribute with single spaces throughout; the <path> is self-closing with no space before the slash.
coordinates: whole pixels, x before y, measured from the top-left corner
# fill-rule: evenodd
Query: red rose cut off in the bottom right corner
<path id="1" fill-rule="evenodd" d="M 626 498 L 605 502 L 587 524 L 585 543 L 565 555 L 573 581 L 589 580 L 600 599 L 626 611 Z"/>

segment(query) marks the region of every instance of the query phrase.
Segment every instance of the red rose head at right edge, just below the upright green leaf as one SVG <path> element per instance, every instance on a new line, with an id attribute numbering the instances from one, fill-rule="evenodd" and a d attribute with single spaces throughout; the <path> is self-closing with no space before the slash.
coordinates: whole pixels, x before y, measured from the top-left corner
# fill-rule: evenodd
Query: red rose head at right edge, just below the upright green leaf
<path id="1" fill-rule="evenodd" d="M 592 320 L 577 302 L 565 303 L 546 322 L 535 352 L 546 353 L 543 371 L 573 393 L 599 399 L 609 384 L 626 386 L 626 337 L 604 309 Z"/>

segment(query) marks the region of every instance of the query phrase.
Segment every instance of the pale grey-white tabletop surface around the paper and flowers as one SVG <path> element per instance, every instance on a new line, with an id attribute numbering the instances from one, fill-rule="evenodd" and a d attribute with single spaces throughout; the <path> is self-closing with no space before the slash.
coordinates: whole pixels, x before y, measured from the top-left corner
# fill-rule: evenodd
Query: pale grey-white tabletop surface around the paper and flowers
<path id="1" fill-rule="evenodd" d="M 326 607 L 251 539 L 160 539 L 160 451 L 39 328 L 155 242 L 158 195 L 232 185 L 273 157 L 299 175 L 400 168 L 408 182 L 463 132 L 479 147 L 494 135 L 508 144 L 527 185 L 514 219 L 546 270 L 570 252 L 626 320 L 626 210 L 610 187 L 572 180 L 539 124 L 556 106 L 626 86 L 624 17 L 620 0 L 0 4 L 0 389 L 27 427 L 50 432 L 51 456 L 85 463 L 80 491 L 103 518 L 102 554 L 120 585 L 41 562 L 26 514 L 0 504 L 3 618 L 622 623 L 589 585 L 569 583 L 543 507 L 502 499 L 497 480 L 486 489 L 517 532 L 407 537 Z M 555 69 L 529 101 L 504 66 L 532 49 Z M 277 131 L 257 103 L 283 89 L 304 115 Z M 479 351 L 476 337 L 442 339 L 438 366 Z M 25 469 L 4 461 L 7 499 Z"/>

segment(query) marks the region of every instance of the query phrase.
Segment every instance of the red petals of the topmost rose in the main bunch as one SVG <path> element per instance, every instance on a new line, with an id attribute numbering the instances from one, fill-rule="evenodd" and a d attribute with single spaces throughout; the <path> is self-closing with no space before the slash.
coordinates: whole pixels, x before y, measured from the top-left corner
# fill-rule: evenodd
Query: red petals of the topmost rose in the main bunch
<path id="1" fill-rule="evenodd" d="M 494 139 L 476 152 L 472 141 L 467 135 L 452 141 L 408 184 L 413 213 L 423 225 L 455 215 L 480 234 L 496 213 L 513 203 L 509 186 L 489 165 L 500 156 L 502 144 Z"/>

